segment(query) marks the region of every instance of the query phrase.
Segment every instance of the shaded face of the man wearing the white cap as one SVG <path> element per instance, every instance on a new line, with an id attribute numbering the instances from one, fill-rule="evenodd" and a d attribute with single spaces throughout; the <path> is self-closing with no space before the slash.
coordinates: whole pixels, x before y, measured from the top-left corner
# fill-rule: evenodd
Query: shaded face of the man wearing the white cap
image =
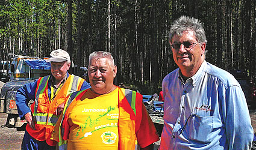
<path id="1" fill-rule="evenodd" d="M 70 62 L 51 62 L 51 73 L 54 78 L 59 81 L 64 79 L 67 70 L 69 70 Z"/>

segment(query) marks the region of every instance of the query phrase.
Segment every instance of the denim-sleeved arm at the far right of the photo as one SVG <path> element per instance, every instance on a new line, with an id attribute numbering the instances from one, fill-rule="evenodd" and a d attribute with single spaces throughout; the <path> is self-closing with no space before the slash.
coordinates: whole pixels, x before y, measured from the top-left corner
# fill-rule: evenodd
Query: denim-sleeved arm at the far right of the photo
<path id="1" fill-rule="evenodd" d="M 245 95 L 239 86 L 226 89 L 226 139 L 229 149 L 251 149 L 254 137 Z"/>

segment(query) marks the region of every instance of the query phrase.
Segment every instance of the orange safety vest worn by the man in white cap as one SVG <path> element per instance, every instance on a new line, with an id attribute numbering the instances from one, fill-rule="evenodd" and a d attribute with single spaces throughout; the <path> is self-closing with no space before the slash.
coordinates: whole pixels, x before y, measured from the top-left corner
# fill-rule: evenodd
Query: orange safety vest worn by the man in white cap
<path id="1" fill-rule="evenodd" d="M 54 112 L 57 107 L 65 101 L 67 95 L 81 89 L 84 79 L 69 75 L 52 101 L 50 101 L 48 97 L 49 79 L 50 76 L 45 76 L 37 80 L 36 96 L 34 103 L 31 105 L 31 112 L 36 118 L 36 130 L 33 130 L 30 125 L 27 125 L 26 130 L 34 139 L 39 141 L 46 140 L 48 145 L 55 146 L 57 142 L 50 140 L 50 137 L 60 115 L 54 115 Z"/>

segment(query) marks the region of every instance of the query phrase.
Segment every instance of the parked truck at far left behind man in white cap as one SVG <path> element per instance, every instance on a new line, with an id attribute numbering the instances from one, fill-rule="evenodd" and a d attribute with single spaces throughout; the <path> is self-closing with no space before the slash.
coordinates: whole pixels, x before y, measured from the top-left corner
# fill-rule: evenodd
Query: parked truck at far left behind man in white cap
<path id="1" fill-rule="evenodd" d="M 8 69 L 9 82 L 2 86 L 0 94 L 0 113 L 7 113 L 7 121 L 5 127 L 17 128 L 22 127 L 27 123 L 25 120 L 20 120 L 17 113 L 15 103 L 17 89 L 21 88 L 26 83 L 34 82 L 39 77 L 51 74 L 51 64 L 46 62 L 48 58 L 37 58 L 29 56 L 14 55 L 11 58 L 10 68 Z M 28 106 L 33 103 L 33 100 L 28 102 Z M 25 125 L 23 125 L 25 127 Z"/>

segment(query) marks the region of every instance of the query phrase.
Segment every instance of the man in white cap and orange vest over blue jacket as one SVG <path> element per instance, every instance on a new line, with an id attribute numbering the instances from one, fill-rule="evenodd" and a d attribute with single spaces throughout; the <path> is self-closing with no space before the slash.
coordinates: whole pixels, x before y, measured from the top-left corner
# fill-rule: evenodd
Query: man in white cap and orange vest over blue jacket
<path id="1" fill-rule="evenodd" d="M 22 149 L 55 149 L 52 130 L 63 110 L 65 98 L 75 91 L 90 88 L 81 77 L 70 75 L 70 56 L 64 50 L 54 50 L 46 62 L 51 62 L 51 75 L 40 77 L 17 91 L 19 116 L 27 121 Z M 30 107 L 29 100 L 34 100 Z"/>

